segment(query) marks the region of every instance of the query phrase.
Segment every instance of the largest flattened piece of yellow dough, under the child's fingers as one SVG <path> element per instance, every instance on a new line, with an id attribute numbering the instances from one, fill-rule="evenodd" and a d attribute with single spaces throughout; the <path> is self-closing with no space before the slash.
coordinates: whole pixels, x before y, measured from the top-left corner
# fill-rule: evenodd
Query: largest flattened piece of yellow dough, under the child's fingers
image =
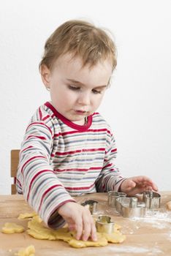
<path id="1" fill-rule="evenodd" d="M 118 231 L 118 225 L 115 225 L 115 232 L 112 234 L 107 233 L 97 233 L 97 241 L 82 241 L 75 239 L 75 233 L 69 232 L 67 227 L 60 228 L 58 230 L 52 230 L 43 225 L 42 220 L 39 217 L 33 217 L 30 222 L 28 222 L 27 233 L 37 239 L 46 240 L 63 240 L 66 241 L 70 246 L 75 248 L 83 248 L 86 246 L 106 246 L 108 242 L 110 243 L 122 243 L 126 236 L 122 235 Z"/>

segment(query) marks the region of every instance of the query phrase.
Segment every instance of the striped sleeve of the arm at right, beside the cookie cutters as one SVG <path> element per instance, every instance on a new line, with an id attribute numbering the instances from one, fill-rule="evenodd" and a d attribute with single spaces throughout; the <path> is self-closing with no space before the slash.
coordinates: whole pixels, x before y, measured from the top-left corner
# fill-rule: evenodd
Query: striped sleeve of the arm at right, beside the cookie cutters
<path id="1" fill-rule="evenodd" d="M 121 183 L 126 178 L 121 176 L 118 168 L 115 167 L 117 148 L 115 147 L 115 138 L 109 131 L 107 135 L 107 148 L 105 151 L 104 165 L 96 179 L 96 191 L 108 192 L 110 190 L 118 191 Z"/>

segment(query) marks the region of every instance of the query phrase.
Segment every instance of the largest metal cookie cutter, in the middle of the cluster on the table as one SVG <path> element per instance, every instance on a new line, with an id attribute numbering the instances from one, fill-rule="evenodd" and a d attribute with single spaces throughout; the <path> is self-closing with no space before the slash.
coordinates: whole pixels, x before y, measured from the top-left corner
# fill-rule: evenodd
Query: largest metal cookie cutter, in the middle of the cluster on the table
<path id="1" fill-rule="evenodd" d="M 116 210 L 126 218 L 144 217 L 146 213 L 145 203 L 139 203 L 137 197 L 119 197 Z"/>

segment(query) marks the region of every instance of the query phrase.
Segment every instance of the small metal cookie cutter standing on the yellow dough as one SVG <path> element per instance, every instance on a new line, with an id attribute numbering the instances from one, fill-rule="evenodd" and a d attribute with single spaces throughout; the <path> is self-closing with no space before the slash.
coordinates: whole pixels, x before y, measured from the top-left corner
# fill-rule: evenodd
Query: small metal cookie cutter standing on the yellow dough
<path id="1" fill-rule="evenodd" d="M 96 220 L 96 230 L 100 233 L 113 233 L 115 222 L 107 215 L 100 215 Z"/>

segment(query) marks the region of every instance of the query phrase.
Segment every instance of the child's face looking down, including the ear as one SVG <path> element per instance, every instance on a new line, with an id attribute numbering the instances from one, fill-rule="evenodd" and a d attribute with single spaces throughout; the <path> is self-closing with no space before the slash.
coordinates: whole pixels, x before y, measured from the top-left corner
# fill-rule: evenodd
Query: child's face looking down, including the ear
<path id="1" fill-rule="evenodd" d="M 111 75 L 109 60 L 90 69 L 82 67 L 80 58 L 71 59 L 69 54 L 57 59 L 52 70 L 42 68 L 42 80 L 50 88 L 53 107 L 80 125 L 99 107 Z"/>

